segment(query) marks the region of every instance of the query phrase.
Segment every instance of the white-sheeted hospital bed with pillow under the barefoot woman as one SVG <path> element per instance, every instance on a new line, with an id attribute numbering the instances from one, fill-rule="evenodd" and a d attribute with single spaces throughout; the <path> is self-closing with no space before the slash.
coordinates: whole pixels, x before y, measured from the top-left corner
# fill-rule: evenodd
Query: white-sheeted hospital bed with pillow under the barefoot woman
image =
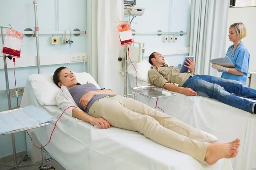
<path id="1" fill-rule="evenodd" d="M 55 117 L 47 127 L 33 130 L 41 144 L 48 142 L 62 113 L 53 98 L 60 89 L 53 84 L 51 76 L 29 76 L 21 102 L 22 107 L 35 105 Z M 90 74 L 76 76 L 81 84 L 88 81 L 99 87 Z M 233 170 L 230 159 L 221 159 L 210 166 L 140 133 L 116 127 L 99 129 L 66 114 L 59 119 L 46 150 L 66 170 Z"/>

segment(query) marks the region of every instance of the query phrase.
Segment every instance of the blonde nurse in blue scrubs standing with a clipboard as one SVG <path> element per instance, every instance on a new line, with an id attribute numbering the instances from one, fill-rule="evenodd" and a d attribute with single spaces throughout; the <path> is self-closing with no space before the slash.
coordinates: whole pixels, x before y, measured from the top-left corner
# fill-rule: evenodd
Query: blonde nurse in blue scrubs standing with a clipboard
<path id="1" fill-rule="evenodd" d="M 223 70 L 221 78 L 237 80 L 246 84 L 249 69 L 250 54 L 241 41 L 246 37 L 246 28 L 243 23 L 234 23 L 229 28 L 228 37 L 233 42 L 228 50 L 226 57 L 229 57 L 235 68 L 226 68 L 221 65 L 213 64 L 212 68 Z"/>

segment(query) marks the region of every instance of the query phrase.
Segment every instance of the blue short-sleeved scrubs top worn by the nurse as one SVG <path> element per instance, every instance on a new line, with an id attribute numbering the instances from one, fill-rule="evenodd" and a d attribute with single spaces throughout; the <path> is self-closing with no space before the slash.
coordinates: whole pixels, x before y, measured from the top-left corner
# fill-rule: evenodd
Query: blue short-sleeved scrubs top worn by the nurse
<path id="1" fill-rule="evenodd" d="M 233 62 L 233 64 L 235 65 L 236 70 L 244 72 L 244 74 L 242 76 L 239 76 L 224 71 L 221 75 L 221 78 L 237 80 L 245 85 L 249 69 L 250 54 L 243 42 L 241 42 L 241 44 L 238 45 L 238 47 L 236 48 L 236 53 L 234 57 L 232 57 L 232 54 L 234 54 L 235 50 L 231 52 L 232 48 L 233 45 L 228 48 L 226 57 L 230 58 L 231 62 Z"/>

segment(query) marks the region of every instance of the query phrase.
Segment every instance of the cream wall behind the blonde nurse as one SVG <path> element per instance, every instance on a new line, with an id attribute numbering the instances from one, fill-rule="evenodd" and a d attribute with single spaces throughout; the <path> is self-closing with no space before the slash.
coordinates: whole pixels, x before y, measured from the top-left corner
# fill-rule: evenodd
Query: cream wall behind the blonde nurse
<path id="1" fill-rule="evenodd" d="M 228 12 L 228 20 L 227 26 L 233 23 L 244 23 L 247 29 L 247 37 L 242 39 L 242 42 L 248 48 L 250 53 L 250 64 L 249 71 L 256 71 L 255 63 L 256 63 L 256 48 L 255 48 L 255 40 L 256 40 L 256 7 L 247 7 L 247 8 L 229 8 Z M 227 30 L 227 41 L 226 41 L 226 49 L 232 45 L 233 43 L 228 39 L 228 31 Z M 248 85 L 249 79 L 247 79 Z M 256 89 L 256 75 L 252 76 L 251 88 Z"/>

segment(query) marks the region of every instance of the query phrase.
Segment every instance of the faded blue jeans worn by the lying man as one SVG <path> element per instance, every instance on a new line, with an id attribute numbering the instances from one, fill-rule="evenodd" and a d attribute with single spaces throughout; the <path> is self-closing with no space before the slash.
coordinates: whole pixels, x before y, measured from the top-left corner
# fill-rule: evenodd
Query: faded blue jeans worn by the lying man
<path id="1" fill-rule="evenodd" d="M 253 113 L 255 102 L 240 98 L 239 96 L 256 100 L 256 90 L 245 87 L 241 82 L 227 80 L 213 76 L 196 75 L 190 77 L 183 85 L 192 88 L 200 96 L 207 96 Z M 236 94 L 237 96 L 233 95 Z M 254 111 L 255 112 L 255 111 Z"/>

